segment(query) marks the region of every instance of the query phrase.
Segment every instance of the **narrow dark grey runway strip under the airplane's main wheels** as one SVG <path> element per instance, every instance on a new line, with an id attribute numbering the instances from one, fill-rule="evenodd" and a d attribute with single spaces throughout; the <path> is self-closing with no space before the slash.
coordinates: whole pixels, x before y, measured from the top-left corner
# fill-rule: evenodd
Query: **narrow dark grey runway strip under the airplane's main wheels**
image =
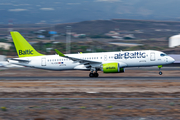
<path id="1" fill-rule="evenodd" d="M 49 80 L 57 80 L 57 81 L 89 81 L 89 80 L 96 80 L 96 81 L 108 81 L 108 80 L 173 80 L 173 81 L 180 81 L 180 77 L 167 77 L 167 76 L 159 76 L 159 77 L 98 77 L 98 78 L 89 78 L 89 77 L 0 77 L 0 80 L 12 81 L 12 80 L 19 80 L 19 81 L 49 81 Z"/>

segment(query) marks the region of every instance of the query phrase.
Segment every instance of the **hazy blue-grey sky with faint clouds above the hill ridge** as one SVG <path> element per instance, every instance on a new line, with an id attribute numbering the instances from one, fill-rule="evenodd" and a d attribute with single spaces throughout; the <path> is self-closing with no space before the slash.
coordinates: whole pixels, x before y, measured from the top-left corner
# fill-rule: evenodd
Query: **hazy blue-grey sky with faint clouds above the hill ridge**
<path id="1" fill-rule="evenodd" d="M 180 20 L 180 0 L 1 0 L 0 24 Z"/>

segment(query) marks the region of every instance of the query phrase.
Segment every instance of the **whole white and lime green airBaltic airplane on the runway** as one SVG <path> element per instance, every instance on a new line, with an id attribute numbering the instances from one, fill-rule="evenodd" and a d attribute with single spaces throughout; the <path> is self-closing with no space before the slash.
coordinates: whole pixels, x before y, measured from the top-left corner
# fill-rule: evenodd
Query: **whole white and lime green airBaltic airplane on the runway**
<path id="1" fill-rule="evenodd" d="M 127 67 L 158 66 L 162 75 L 162 65 L 175 60 L 161 51 L 138 50 L 100 53 L 63 54 L 57 49 L 56 55 L 43 55 L 37 52 L 25 38 L 16 31 L 11 32 L 19 58 L 11 58 L 12 64 L 47 70 L 88 70 L 89 77 L 104 73 L 123 73 Z"/>

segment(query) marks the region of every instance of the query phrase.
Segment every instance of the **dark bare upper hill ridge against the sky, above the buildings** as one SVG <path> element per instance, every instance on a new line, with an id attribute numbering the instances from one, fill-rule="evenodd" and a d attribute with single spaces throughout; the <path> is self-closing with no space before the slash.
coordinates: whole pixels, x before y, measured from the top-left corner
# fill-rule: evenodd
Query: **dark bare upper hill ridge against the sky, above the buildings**
<path id="1" fill-rule="evenodd" d="M 72 31 L 76 33 L 104 34 L 109 31 L 129 32 L 138 38 L 160 38 L 169 37 L 180 33 L 180 22 L 171 21 L 146 21 L 146 20 L 94 20 L 78 23 L 58 24 L 55 30 L 61 33 L 65 32 L 66 26 L 72 26 Z M 141 31 L 141 33 L 135 31 Z"/>

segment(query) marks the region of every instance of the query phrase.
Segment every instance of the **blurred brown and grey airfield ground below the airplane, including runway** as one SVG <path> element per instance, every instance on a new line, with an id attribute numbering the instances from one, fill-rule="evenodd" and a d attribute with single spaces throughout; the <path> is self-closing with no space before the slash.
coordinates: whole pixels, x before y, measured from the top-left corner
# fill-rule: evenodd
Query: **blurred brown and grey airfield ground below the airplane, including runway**
<path id="1" fill-rule="evenodd" d="M 89 71 L 0 71 L 0 119 L 178 120 L 180 68 L 128 68 L 89 78 Z"/>

